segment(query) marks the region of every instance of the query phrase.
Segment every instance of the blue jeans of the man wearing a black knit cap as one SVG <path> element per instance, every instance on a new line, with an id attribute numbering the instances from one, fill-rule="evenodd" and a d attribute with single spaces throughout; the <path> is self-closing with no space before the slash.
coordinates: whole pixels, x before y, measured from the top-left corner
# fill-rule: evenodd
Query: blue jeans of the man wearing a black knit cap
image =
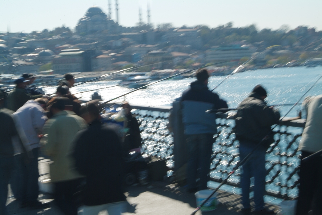
<path id="1" fill-rule="evenodd" d="M 239 153 L 242 161 L 255 147 L 240 142 Z M 249 160 L 241 167 L 241 188 L 242 188 L 242 204 L 244 208 L 250 208 L 249 187 L 251 185 L 251 177 L 254 177 L 254 203 L 255 210 L 264 209 L 264 191 L 265 191 L 265 153 L 266 150 L 259 148 L 251 154 Z"/>

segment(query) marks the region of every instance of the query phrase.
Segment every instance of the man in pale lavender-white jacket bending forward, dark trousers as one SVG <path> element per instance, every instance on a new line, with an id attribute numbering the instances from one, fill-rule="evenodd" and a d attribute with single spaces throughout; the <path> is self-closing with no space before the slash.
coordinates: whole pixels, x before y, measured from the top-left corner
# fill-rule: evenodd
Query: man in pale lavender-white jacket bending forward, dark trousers
<path id="1" fill-rule="evenodd" d="M 43 125 L 47 121 L 45 115 L 45 99 L 28 100 L 12 116 L 15 121 L 17 132 L 27 153 L 27 159 L 22 164 L 23 177 L 15 180 L 21 183 L 21 207 L 31 207 L 33 209 L 46 208 L 48 204 L 43 204 L 38 198 L 38 152 L 40 147 L 39 135 L 42 133 Z"/>

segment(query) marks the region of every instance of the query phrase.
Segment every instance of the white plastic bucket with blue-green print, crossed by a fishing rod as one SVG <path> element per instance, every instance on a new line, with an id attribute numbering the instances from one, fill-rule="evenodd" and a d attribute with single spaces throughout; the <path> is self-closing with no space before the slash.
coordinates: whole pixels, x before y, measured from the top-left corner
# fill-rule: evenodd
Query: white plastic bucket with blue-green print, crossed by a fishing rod
<path id="1" fill-rule="evenodd" d="M 211 194 L 213 193 L 212 190 L 200 190 L 197 193 L 194 193 L 195 197 L 196 197 L 196 203 L 197 203 L 197 207 L 199 207 L 202 202 L 204 202 L 204 200 Z M 218 202 L 217 202 L 217 193 L 213 194 L 212 197 L 210 197 L 210 199 L 204 203 L 204 205 L 200 208 L 201 211 L 213 211 L 217 208 L 218 206 Z"/>

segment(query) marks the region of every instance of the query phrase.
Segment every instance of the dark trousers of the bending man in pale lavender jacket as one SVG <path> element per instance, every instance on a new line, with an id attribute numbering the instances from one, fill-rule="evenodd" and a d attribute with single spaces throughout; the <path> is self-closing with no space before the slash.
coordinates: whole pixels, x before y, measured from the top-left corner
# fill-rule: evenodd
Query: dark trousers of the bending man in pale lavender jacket
<path id="1" fill-rule="evenodd" d="M 38 148 L 32 149 L 33 157 L 27 159 L 22 165 L 23 178 L 21 179 L 22 191 L 21 201 L 34 203 L 38 200 Z"/>

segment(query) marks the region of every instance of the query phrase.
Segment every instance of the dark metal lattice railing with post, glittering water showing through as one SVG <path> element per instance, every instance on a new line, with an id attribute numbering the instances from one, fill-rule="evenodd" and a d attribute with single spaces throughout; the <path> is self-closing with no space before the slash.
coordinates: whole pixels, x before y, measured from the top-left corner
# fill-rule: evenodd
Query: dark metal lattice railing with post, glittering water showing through
<path id="1" fill-rule="evenodd" d="M 180 125 L 180 107 L 147 107 L 132 105 L 132 113 L 140 125 L 143 139 L 142 149 L 149 156 L 167 160 L 169 169 L 177 170 L 187 161 L 185 137 Z M 172 110 L 172 131 L 168 129 Z M 232 118 L 227 114 L 217 114 L 218 134 L 214 135 L 213 155 L 210 165 L 210 180 L 222 182 L 237 162 L 239 162 L 239 142 L 235 138 Z M 266 152 L 266 194 L 283 199 L 294 199 L 298 194 L 297 174 L 300 154 L 297 152 L 305 120 L 291 120 L 279 124 L 274 130 L 274 139 Z M 239 187 L 240 170 L 228 180 L 228 185 Z"/>

